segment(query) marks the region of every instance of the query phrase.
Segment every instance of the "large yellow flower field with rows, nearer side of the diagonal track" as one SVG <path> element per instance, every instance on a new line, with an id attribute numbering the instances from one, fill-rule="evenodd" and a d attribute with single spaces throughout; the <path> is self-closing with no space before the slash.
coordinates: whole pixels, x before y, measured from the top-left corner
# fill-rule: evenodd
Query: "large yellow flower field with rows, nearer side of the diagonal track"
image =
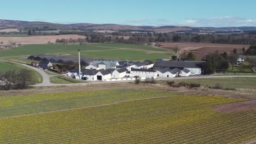
<path id="1" fill-rule="evenodd" d="M 256 138 L 256 111 L 211 106 L 245 99 L 178 95 L 0 118 L 0 143 L 242 143 Z"/>

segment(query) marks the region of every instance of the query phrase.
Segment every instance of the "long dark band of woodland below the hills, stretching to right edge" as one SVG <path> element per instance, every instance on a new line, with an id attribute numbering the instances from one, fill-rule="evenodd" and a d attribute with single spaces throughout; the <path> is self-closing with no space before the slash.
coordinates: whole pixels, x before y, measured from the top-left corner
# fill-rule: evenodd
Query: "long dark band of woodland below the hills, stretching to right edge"
<path id="1" fill-rule="evenodd" d="M 103 33 L 86 34 L 88 43 L 126 43 L 145 44 L 156 42 L 195 42 L 218 44 L 249 44 L 256 45 L 254 34 L 195 34 L 195 33 L 133 33 L 113 32 L 113 35 Z M 128 36 L 129 38 L 124 38 Z"/>

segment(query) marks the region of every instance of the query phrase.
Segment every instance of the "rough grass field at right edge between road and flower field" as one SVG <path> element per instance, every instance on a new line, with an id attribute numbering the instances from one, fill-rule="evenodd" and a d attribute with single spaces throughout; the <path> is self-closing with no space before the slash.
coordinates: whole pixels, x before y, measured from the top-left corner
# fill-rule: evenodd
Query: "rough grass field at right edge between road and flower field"
<path id="1" fill-rule="evenodd" d="M 185 79 L 174 80 L 175 82 L 201 83 L 203 86 L 214 86 L 220 83 L 222 86 L 229 86 L 233 88 L 249 88 L 256 87 L 256 77 L 240 77 L 240 78 L 209 78 L 209 79 Z"/>

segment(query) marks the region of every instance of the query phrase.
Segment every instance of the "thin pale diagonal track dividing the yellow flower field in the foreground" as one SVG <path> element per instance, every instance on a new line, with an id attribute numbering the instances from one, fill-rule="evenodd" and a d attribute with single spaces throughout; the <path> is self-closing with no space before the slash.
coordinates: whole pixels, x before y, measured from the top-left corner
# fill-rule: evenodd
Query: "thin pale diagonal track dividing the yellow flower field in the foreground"
<path id="1" fill-rule="evenodd" d="M 148 100 L 148 99 L 168 98 L 168 97 L 174 97 L 174 96 L 179 96 L 179 95 L 184 95 L 184 94 L 176 94 L 176 95 L 168 95 L 168 96 L 162 96 L 162 97 L 151 97 L 151 98 L 142 98 L 142 99 L 132 99 L 132 100 L 114 101 L 113 103 L 109 103 L 109 104 L 91 105 L 91 106 L 77 107 L 77 108 L 65 109 L 65 110 L 56 110 L 56 111 L 47 111 L 47 112 L 30 113 L 30 114 L 19 115 L 19 116 L 0 117 L 0 119 L 4 119 L 4 118 L 15 118 L 15 117 L 23 117 L 23 116 L 33 116 L 33 115 L 40 115 L 40 114 L 44 114 L 44 113 L 53 113 L 53 112 L 61 112 L 61 111 L 71 111 L 71 110 L 88 109 L 88 108 L 92 108 L 92 107 L 101 107 L 101 106 L 108 106 L 108 105 L 116 105 L 116 104 L 126 103 L 126 102 L 130 102 L 130 101 L 140 101 L 140 100 Z"/>

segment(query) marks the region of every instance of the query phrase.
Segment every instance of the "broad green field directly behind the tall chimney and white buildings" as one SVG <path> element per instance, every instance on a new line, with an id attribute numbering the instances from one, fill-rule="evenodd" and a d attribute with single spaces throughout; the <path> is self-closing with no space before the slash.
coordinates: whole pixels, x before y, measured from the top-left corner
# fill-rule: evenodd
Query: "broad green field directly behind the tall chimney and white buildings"
<path id="1" fill-rule="evenodd" d="M 0 57 L 26 62 L 27 59 L 25 58 L 30 55 L 55 54 L 78 56 L 78 49 L 80 49 L 81 55 L 85 57 L 128 59 L 130 61 L 144 61 L 147 59 L 156 61 L 159 57 L 169 58 L 173 54 L 173 50 L 133 44 L 37 44 L 2 50 Z"/>

